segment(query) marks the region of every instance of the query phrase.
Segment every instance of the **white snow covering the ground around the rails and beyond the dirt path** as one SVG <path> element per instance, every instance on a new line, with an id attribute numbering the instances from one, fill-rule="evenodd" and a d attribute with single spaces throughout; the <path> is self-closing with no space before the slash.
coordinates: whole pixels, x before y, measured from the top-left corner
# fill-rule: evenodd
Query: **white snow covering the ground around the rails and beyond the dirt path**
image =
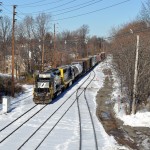
<path id="1" fill-rule="evenodd" d="M 111 59 L 108 59 L 105 62 L 100 63 L 94 68 L 96 72 L 96 77 L 94 81 L 89 85 L 86 97 L 88 99 L 88 103 L 90 106 L 90 112 L 93 117 L 94 127 L 96 130 L 96 137 L 99 150 L 118 150 L 118 149 L 128 149 L 124 146 L 119 146 L 115 141 L 113 136 L 109 136 L 102 124 L 99 122 L 96 116 L 96 95 L 100 88 L 103 86 L 104 74 L 102 70 L 106 67 L 110 67 L 108 62 L 111 62 Z M 70 89 L 65 91 L 64 94 L 56 98 L 50 105 L 47 105 L 42 111 L 40 111 L 37 115 L 35 115 L 32 119 L 30 119 L 25 125 L 20 127 L 16 132 L 14 132 L 8 139 L 4 142 L 0 143 L 0 149 L 18 149 L 19 146 L 32 134 L 41 124 L 56 111 L 56 109 L 63 104 L 63 102 L 79 87 L 81 83 L 88 77 L 85 76 L 83 79 L 79 80 L 76 84 L 74 84 Z M 92 77 L 91 77 L 92 78 Z M 118 84 L 115 85 L 115 91 L 113 93 L 113 98 L 117 97 L 119 90 L 117 88 Z M 26 112 L 29 108 L 33 107 L 35 104 L 33 102 L 33 85 L 24 85 L 27 89 L 25 93 L 11 100 L 11 111 L 9 113 L 2 112 L 2 105 L 0 104 L 0 129 L 5 127 L 8 123 L 19 117 L 21 114 Z M 84 87 L 83 87 L 84 88 Z M 82 89 L 79 90 L 78 95 L 81 93 Z M 25 145 L 21 149 L 32 150 L 37 147 L 37 145 L 41 142 L 41 140 L 45 137 L 45 135 L 50 132 L 50 134 L 46 137 L 43 143 L 38 148 L 39 150 L 51 149 L 51 150 L 76 150 L 79 149 L 79 116 L 77 110 L 77 102 L 75 101 L 76 94 L 69 99 L 65 103 L 65 107 L 61 107 L 54 116 L 52 116 L 45 124 L 40 128 L 40 130 L 34 134 L 31 139 L 25 143 Z M 83 127 L 83 146 L 85 149 L 94 149 L 94 138 L 92 135 L 92 126 L 90 125 L 90 119 L 87 115 L 89 113 L 87 111 L 86 103 L 83 100 L 84 97 L 81 95 L 80 97 L 80 107 L 82 108 L 82 116 L 84 119 L 82 120 Z M 68 108 L 71 104 L 73 104 L 68 112 L 62 117 L 66 108 Z M 16 129 L 20 124 L 25 122 L 32 114 L 37 112 L 43 105 L 38 105 L 35 107 L 30 113 L 27 113 L 23 117 L 21 117 L 18 121 L 14 122 L 11 126 L 6 128 L 4 131 L 0 133 L 0 140 L 7 136 L 8 133 L 11 133 L 14 129 Z M 115 105 L 117 108 L 117 103 Z M 115 109 L 116 110 L 116 109 Z M 133 116 L 126 116 L 123 111 L 119 113 L 116 110 L 117 117 L 123 119 L 125 124 L 134 125 L 135 121 L 141 126 L 149 126 L 150 127 L 150 114 L 149 112 L 145 113 L 137 113 Z M 58 119 L 62 117 L 60 122 Z M 128 117 L 128 118 L 127 118 Z M 140 117 L 140 118 L 139 118 Z M 143 119 L 144 118 L 144 121 Z M 130 121 L 129 121 L 130 120 Z M 53 126 L 57 124 L 54 130 L 51 132 Z M 135 123 L 136 124 L 136 123 Z M 149 125 L 148 125 L 149 124 Z M 19 140 L 18 140 L 19 139 Z M 13 142 L 12 142 L 13 141 Z M 15 141 L 15 142 L 14 142 Z M 146 141 L 145 141 L 146 142 Z M 143 143 L 144 144 L 144 143 Z"/>

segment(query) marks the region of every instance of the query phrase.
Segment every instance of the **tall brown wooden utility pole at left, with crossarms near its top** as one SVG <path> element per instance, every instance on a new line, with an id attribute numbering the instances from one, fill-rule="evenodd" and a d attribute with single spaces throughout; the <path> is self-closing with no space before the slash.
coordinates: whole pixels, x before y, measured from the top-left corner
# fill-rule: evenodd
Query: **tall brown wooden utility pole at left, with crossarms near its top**
<path id="1" fill-rule="evenodd" d="M 16 5 L 13 5 L 13 20 L 12 20 L 12 83 L 11 83 L 11 96 L 14 97 L 14 51 L 15 51 L 15 37 L 14 37 L 14 33 L 15 33 L 15 9 L 16 9 Z"/>

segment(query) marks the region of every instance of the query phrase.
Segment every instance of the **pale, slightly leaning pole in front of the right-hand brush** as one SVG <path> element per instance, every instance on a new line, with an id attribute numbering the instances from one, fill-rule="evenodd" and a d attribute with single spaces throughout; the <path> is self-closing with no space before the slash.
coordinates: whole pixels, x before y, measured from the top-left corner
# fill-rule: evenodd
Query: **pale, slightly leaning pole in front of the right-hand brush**
<path id="1" fill-rule="evenodd" d="M 136 95 L 137 95 L 138 57 L 139 57 L 139 35 L 137 35 L 137 45 L 136 45 L 132 114 L 135 114 L 135 111 L 136 111 L 136 104 L 135 103 L 136 103 Z"/>

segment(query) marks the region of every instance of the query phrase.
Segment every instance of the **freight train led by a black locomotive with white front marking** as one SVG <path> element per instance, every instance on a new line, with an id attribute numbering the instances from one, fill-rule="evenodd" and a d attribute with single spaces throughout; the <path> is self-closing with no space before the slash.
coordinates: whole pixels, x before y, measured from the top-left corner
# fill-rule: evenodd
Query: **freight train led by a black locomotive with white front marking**
<path id="1" fill-rule="evenodd" d="M 35 104 L 49 104 L 73 82 L 90 71 L 106 57 L 101 52 L 87 58 L 76 59 L 69 65 L 51 68 L 35 76 L 33 101 Z"/>

